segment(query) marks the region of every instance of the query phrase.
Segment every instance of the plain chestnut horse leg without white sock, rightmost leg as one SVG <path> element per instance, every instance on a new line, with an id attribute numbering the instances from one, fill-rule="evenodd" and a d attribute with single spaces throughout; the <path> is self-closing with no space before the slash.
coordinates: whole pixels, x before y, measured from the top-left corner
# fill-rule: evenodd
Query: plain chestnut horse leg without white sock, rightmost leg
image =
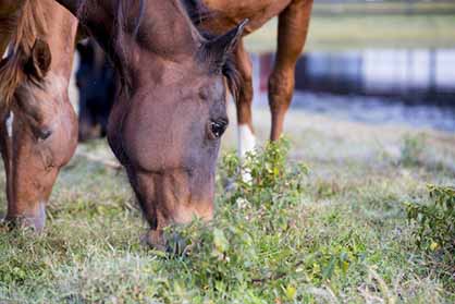
<path id="1" fill-rule="evenodd" d="M 278 53 L 269 78 L 271 141 L 280 138 L 294 90 L 295 64 L 308 33 L 312 0 L 294 0 L 279 16 Z"/>

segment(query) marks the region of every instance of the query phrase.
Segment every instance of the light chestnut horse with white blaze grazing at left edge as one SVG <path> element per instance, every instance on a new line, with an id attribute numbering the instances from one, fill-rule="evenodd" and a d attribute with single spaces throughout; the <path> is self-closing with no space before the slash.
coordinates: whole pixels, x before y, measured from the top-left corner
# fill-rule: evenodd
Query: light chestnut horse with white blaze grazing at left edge
<path id="1" fill-rule="evenodd" d="M 0 0 L 0 149 L 7 220 L 41 230 L 57 175 L 73 156 L 69 101 L 77 20 L 53 0 Z"/>

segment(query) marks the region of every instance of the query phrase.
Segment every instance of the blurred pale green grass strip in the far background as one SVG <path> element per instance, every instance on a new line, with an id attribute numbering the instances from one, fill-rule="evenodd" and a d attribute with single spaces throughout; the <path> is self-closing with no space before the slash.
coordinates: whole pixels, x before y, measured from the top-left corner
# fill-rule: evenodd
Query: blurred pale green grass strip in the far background
<path id="1" fill-rule="evenodd" d="M 453 48 L 455 15 L 313 15 L 305 49 Z M 254 52 L 275 50 L 276 20 L 247 37 Z"/>

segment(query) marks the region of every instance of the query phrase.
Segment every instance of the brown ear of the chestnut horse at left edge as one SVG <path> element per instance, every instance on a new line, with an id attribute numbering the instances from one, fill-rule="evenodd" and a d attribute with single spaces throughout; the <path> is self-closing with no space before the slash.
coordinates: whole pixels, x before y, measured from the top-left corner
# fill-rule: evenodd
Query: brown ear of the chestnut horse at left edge
<path id="1" fill-rule="evenodd" d="M 25 73 L 42 80 L 49 72 L 51 61 L 52 56 L 49 45 L 41 39 L 36 39 L 32 48 L 32 54 L 25 63 Z"/>

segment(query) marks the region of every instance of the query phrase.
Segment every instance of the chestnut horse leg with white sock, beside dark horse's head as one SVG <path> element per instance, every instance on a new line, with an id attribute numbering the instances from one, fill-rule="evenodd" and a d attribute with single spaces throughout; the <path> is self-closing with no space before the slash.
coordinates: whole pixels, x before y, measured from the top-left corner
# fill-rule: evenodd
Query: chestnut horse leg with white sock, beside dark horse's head
<path id="1" fill-rule="evenodd" d="M 238 156 L 244 157 L 246 153 L 251 151 L 256 145 L 256 138 L 251 121 L 253 102 L 253 77 L 251 61 L 244 48 L 243 40 L 237 45 L 235 52 L 238 72 L 242 75 L 242 87 L 236 102 L 237 124 L 238 124 Z"/>

